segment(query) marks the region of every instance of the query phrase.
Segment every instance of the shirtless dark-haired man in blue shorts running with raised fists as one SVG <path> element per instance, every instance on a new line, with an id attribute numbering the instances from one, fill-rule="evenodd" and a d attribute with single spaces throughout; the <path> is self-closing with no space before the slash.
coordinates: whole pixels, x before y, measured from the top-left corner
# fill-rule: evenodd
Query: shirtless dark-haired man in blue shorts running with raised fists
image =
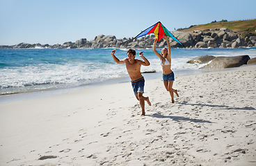
<path id="1" fill-rule="evenodd" d="M 143 56 L 143 53 L 139 53 L 139 55 L 144 61 L 135 59 L 136 51 L 133 49 L 127 50 L 127 58 L 122 60 L 115 57 L 115 50 L 112 50 L 111 55 L 117 64 L 125 64 L 127 72 L 131 77 L 131 86 L 134 89 L 134 95 L 141 104 L 141 116 L 145 116 L 145 101 L 150 106 L 151 103 L 150 98 L 143 96 L 145 80 L 141 75 L 141 65 L 150 66 L 150 62 Z"/>

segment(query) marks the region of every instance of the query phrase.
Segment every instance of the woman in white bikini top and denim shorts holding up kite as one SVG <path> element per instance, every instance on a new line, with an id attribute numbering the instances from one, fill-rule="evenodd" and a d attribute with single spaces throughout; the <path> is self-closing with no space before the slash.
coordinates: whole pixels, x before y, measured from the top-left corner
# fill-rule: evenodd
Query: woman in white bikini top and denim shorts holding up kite
<path id="1" fill-rule="evenodd" d="M 174 102 L 173 93 L 175 93 L 177 95 L 177 97 L 179 97 L 179 95 L 177 93 L 177 90 L 173 89 L 174 73 L 170 69 L 170 66 L 171 66 L 170 43 L 169 43 L 166 36 L 163 36 L 163 39 L 166 40 L 167 45 L 168 45 L 168 49 L 163 48 L 161 50 L 161 54 L 159 54 L 157 52 L 157 48 L 156 48 L 156 46 L 157 46 L 157 38 L 156 38 L 156 39 L 154 39 L 153 50 L 154 50 L 154 53 L 157 55 L 157 57 L 159 57 L 160 64 L 163 68 L 163 84 L 164 84 L 164 87 L 166 88 L 166 91 L 168 91 L 170 93 L 170 97 L 172 98 L 172 102 Z"/>

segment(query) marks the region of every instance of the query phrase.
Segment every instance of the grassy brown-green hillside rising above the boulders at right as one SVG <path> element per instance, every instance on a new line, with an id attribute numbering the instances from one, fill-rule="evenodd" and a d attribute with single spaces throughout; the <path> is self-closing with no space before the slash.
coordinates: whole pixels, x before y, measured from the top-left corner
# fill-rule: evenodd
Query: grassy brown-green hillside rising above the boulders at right
<path id="1" fill-rule="evenodd" d="M 205 30 L 214 28 L 229 28 L 238 33 L 242 37 L 250 37 L 256 35 L 256 19 L 242 20 L 242 21 L 212 21 L 209 24 L 190 26 L 189 28 L 180 28 L 178 30 L 191 32 L 193 30 Z"/>

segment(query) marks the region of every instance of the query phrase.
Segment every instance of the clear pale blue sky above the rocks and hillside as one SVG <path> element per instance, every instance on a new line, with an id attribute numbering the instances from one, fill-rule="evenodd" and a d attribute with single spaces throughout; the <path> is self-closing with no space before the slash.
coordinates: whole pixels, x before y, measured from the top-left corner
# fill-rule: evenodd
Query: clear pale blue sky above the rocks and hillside
<path id="1" fill-rule="evenodd" d="M 97 35 L 135 37 L 161 21 L 173 31 L 256 19 L 255 0 L 0 0 L 0 45 L 63 44 Z"/>

